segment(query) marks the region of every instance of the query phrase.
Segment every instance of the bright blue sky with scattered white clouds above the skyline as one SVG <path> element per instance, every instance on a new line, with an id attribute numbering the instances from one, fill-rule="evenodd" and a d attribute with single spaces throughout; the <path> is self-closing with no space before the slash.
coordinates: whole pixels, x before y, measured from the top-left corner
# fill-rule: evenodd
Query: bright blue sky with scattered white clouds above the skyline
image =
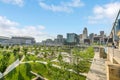
<path id="1" fill-rule="evenodd" d="M 58 34 L 110 34 L 120 0 L 0 0 L 0 36 L 31 36 L 37 42 Z"/>

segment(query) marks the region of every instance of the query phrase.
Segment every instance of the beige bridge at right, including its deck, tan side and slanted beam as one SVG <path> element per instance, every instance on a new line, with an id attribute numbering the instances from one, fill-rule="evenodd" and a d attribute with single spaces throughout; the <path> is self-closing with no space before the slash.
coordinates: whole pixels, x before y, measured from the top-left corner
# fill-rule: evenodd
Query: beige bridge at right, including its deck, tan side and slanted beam
<path id="1" fill-rule="evenodd" d="M 97 49 L 99 48 L 99 52 L 95 52 L 95 56 L 86 80 L 120 80 L 119 15 L 120 10 L 112 26 L 106 46 L 96 46 Z M 111 43 L 109 42 L 110 39 L 112 39 Z"/>

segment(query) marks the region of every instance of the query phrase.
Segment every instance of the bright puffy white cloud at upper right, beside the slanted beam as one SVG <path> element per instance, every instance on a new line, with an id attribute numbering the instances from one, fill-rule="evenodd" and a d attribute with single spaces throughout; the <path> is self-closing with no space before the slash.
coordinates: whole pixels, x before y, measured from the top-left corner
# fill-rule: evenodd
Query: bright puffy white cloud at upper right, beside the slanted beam
<path id="1" fill-rule="evenodd" d="M 97 5 L 93 9 L 93 16 L 89 16 L 89 23 L 102 23 L 114 21 L 120 9 L 120 2 L 109 3 L 105 5 Z"/>

